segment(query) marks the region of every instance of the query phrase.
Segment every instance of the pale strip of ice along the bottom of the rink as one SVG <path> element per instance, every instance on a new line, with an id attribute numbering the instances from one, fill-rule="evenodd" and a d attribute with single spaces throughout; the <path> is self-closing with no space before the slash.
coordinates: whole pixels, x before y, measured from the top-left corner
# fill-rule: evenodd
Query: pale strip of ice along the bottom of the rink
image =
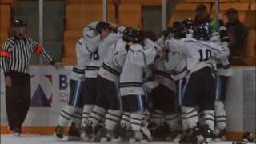
<path id="1" fill-rule="evenodd" d="M 83 143 L 85 142 L 69 142 L 64 140 L 57 141 L 54 136 L 41 136 L 41 135 L 22 135 L 22 137 L 13 137 L 12 135 L 1 135 L 1 144 L 76 144 L 76 143 Z M 98 143 L 98 142 L 97 142 Z M 116 143 L 116 142 L 106 142 L 106 144 Z M 165 144 L 172 142 L 146 142 L 150 144 Z M 212 142 L 217 144 L 232 144 L 232 142 Z M 89 144 L 94 144 L 90 142 Z M 178 143 L 176 143 L 178 144 Z M 248 143 L 249 144 L 249 143 Z"/>

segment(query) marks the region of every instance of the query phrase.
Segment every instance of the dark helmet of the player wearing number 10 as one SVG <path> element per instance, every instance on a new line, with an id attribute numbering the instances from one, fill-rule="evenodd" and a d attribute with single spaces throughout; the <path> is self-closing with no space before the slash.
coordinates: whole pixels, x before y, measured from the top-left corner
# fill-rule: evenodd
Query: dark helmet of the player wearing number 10
<path id="1" fill-rule="evenodd" d="M 208 41 L 210 40 L 211 34 L 209 27 L 206 25 L 200 25 L 196 27 L 193 31 L 193 38 L 202 40 L 202 41 Z"/>

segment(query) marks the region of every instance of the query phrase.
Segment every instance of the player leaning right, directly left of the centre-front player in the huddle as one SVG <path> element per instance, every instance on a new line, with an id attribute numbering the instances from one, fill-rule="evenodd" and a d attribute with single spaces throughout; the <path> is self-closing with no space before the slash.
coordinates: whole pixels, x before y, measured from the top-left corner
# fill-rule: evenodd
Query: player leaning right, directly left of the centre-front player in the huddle
<path id="1" fill-rule="evenodd" d="M 114 138 L 114 128 L 121 118 L 120 98 L 117 86 L 127 54 L 124 39 L 127 37 L 129 31 L 130 28 L 126 28 L 123 31 L 123 37 L 118 39 L 117 42 L 114 42 L 110 47 L 102 66 L 98 70 L 98 87 L 100 87 L 100 89 L 98 89 L 97 92 L 97 99 L 92 114 L 94 114 L 94 112 L 101 113 L 102 115 L 106 114 L 104 128 L 101 130 L 102 134 L 99 134 L 106 138 L 102 138 L 102 141 Z M 102 110 L 102 112 L 97 110 Z M 94 137 L 94 128 L 98 125 L 99 121 L 93 117 L 89 117 L 88 121 L 90 121 L 90 126 L 87 126 L 89 130 L 86 132 L 86 137 Z M 95 138 L 90 139 L 93 141 Z"/>

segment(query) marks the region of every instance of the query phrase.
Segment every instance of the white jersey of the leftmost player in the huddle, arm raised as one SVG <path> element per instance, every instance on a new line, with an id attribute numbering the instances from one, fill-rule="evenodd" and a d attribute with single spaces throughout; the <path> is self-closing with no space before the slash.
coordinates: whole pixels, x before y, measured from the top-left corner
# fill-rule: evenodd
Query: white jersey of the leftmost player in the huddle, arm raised
<path id="1" fill-rule="evenodd" d="M 83 36 L 80 38 L 76 44 L 76 56 L 77 56 L 77 66 L 73 67 L 70 74 L 70 78 L 76 81 L 83 80 L 85 77 L 86 62 L 90 60 L 90 53 L 86 50 L 86 42 L 94 38 L 98 33 L 95 28 L 98 21 L 91 22 L 83 30 Z"/>

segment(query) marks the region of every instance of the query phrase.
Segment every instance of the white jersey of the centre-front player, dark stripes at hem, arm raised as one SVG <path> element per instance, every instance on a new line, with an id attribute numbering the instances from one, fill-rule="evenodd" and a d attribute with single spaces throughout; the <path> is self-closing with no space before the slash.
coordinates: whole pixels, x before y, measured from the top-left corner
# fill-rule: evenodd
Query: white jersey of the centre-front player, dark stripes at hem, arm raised
<path id="1" fill-rule="evenodd" d="M 143 70 L 154 62 L 158 45 L 146 39 L 144 47 L 140 44 L 130 46 L 120 75 L 120 94 L 145 95 L 143 89 Z"/>

